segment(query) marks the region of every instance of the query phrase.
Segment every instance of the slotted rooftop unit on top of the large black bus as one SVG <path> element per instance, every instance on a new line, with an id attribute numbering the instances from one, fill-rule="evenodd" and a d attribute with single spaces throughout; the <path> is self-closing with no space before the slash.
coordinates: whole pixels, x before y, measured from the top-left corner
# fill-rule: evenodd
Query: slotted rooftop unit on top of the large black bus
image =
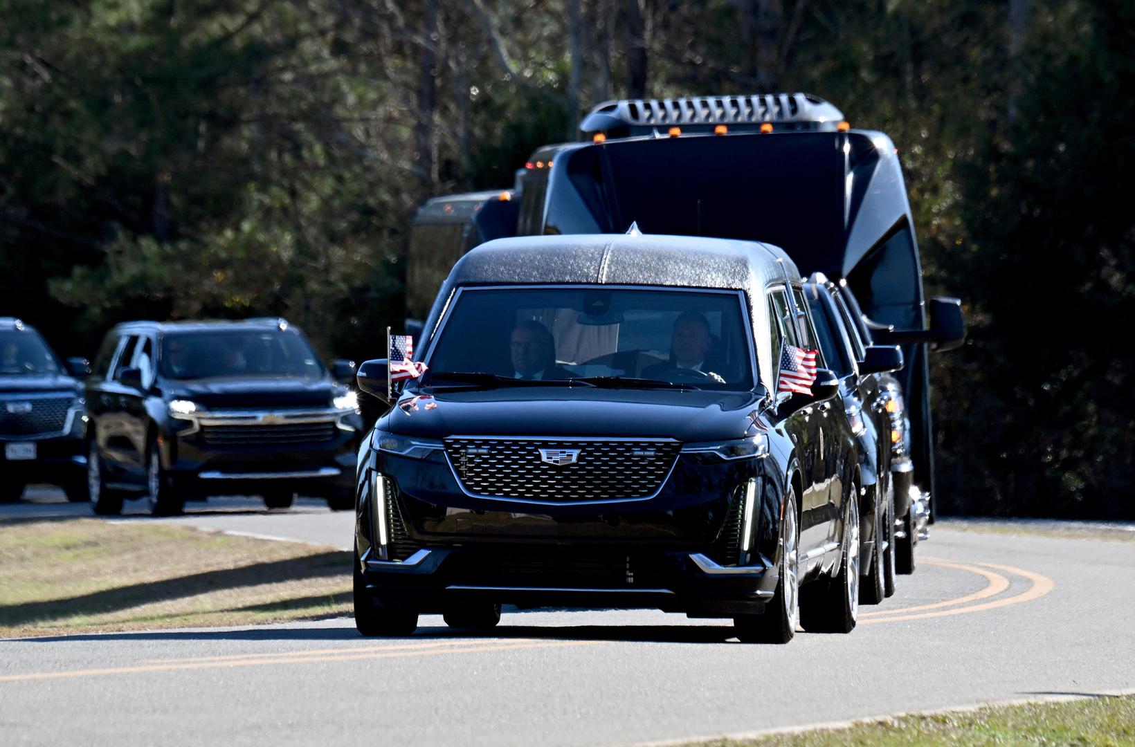
<path id="1" fill-rule="evenodd" d="M 717 125 L 745 131 L 759 129 L 765 122 L 796 125 L 791 129 L 834 130 L 842 120 L 843 112 L 808 93 L 758 93 L 607 101 L 592 109 L 579 129 L 585 135 L 615 130 L 616 137 L 619 133 L 644 134 L 641 130 L 651 128 L 692 127 L 700 131 Z"/>

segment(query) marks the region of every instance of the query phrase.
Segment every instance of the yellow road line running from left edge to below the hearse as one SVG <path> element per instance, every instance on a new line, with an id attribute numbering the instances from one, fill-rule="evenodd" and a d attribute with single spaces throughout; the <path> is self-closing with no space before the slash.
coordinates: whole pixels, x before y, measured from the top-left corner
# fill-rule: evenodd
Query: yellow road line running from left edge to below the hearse
<path id="1" fill-rule="evenodd" d="M 140 664 L 134 667 L 114 667 L 106 669 L 78 669 L 64 672 L 28 672 L 25 674 L 7 674 L 0 677 L 0 682 L 25 682 L 30 680 L 70 679 L 76 677 L 98 677 L 106 674 L 137 674 L 143 672 L 171 672 L 191 669 L 230 669 L 234 667 L 260 667 L 264 664 L 305 664 L 318 662 L 355 661 L 361 659 L 401 659 L 407 656 L 438 656 L 446 654 L 473 654 L 493 651 L 519 651 L 526 648 L 558 648 L 568 646 L 591 646 L 603 640 L 547 640 L 520 644 L 496 644 L 469 646 L 465 648 L 431 648 L 420 651 L 387 651 L 360 654 L 343 654 L 333 656 L 294 656 L 280 654 L 274 659 L 251 659 L 239 661 L 183 662 L 169 664 Z"/>

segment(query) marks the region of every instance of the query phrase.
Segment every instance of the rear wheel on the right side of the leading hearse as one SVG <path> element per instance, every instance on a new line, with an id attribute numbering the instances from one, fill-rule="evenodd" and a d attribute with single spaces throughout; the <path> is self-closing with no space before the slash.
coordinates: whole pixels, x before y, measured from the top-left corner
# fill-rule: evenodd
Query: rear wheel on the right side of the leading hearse
<path id="1" fill-rule="evenodd" d="M 800 589 L 800 625 L 808 633 L 851 633 L 859 617 L 859 489 L 851 483 L 843 517 L 843 552 L 835 578 Z M 854 550 L 854 555 L 852 555 Z M 805 594 L 805 589 L 808 591 Z"/>

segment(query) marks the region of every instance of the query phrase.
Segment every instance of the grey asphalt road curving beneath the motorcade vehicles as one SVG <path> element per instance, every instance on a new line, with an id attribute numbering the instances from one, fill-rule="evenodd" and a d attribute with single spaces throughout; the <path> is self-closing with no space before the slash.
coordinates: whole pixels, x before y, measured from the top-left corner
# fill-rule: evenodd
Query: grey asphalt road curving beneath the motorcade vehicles
<path id="1" fill-rule="evenodd" d="M 31 498 L 0 530 L 83 508 Z M 350 515 L 317 502 L 190 510 L 176 520 L 350 542 Z M 402 639 L 339 619 L 0 642 L 0 744 L 636 745 L 1135 689 L 1135 543 L 936 525 L 918 553 L 850 635 L 787 646 L 740 644 L 724 620 L 562 610 L 486 636 L 423 616 Z"/>

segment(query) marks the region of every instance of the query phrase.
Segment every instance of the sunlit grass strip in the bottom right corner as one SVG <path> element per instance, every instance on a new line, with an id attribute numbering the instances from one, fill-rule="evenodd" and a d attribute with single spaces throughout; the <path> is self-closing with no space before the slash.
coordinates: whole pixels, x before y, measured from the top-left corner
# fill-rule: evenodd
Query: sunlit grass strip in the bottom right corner
<path id="1" fill-rule="evenodd" d="M 1056 747 L 1135 745 L 1135 697 L 991 706 L 910 715 L 844 729 L 697 742 L 696 747 Z M 693 744 L 690 747 L 695 747 Z"/>

